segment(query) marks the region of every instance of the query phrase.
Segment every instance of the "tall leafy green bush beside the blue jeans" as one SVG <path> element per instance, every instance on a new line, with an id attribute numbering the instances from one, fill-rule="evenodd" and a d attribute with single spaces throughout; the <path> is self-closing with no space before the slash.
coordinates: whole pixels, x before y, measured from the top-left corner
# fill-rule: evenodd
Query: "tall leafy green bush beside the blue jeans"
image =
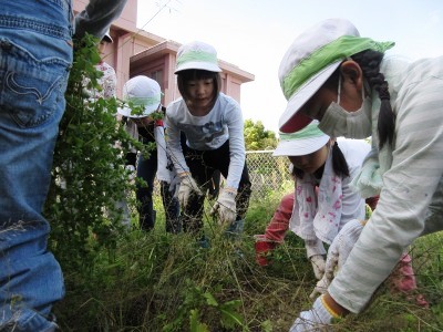
<path id="1" fill-rule="evenodd" d="M 44 208 L 52 227 L 49 245 L 62 267 L 85 267 L 86 272 L 97 250 L 115 248 L 123 234 L 123 211 L 116 204 L 134 189 L 124 169 L 125 154 L 131 146 L 144 151 L 117 122 L 119 100 L 93 100 L 85 93 L 86 83 L 100 89 L 96 42 L 91 35 L 75 41 Z"/>

